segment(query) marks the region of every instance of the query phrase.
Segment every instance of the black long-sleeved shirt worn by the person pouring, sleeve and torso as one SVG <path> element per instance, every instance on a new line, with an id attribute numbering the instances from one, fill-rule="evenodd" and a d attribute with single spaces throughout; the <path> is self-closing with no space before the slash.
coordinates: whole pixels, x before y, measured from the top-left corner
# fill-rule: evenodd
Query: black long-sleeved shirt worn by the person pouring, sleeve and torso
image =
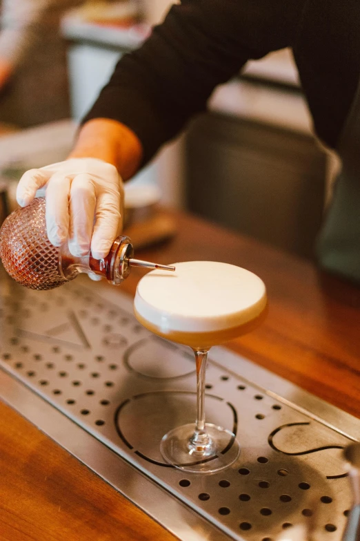
<path id="1" fill-rule="evenodd" d="M 84 120 L 126 124 L 147 162 L 248 59 L 291 47 L 319 137 L 336 148 L 360 75 L 359 0 L 183 0 L 117 64 Z"/>

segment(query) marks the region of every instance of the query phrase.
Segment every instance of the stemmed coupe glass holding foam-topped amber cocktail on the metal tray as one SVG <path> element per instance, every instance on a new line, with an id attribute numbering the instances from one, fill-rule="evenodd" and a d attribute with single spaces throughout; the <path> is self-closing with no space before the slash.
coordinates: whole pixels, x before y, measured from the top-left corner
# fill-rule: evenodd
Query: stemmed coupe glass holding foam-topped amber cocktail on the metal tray
<path id="1" fill-rule="evenodd" d="M 208 351 L 255 328 L 267 300 L 263 281 L 246 269 L 213 261 L 174 263 L 175 272 L 141 278 L 134 300 L 137 319 L 165 339 L 190 346 L 197 368 L 197 419 L 161 440 L 166 462 L 190 472 L 213 473 L 240 453 L 235 435 L 205 422 Z"/>

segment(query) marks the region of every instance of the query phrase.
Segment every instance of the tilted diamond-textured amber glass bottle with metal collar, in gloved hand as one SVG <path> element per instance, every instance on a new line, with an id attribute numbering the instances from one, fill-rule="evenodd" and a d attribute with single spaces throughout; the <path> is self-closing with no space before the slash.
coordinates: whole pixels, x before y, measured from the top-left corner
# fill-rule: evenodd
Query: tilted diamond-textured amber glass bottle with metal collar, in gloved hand
<path id="1" fill-rule="evenodd" d="M 70 254 L 67 243 L 55 247 L 46 232 L 46 201 L 36 198 L 17 209 L 0 229 L 0 258 L 15 281 L 33 290 L 51 290 L 76 278 L 80 272 L 97 274 L 118 285 L 130 272 L 133 248 L 126 236 L 118 237 L 106 258 Z"/>

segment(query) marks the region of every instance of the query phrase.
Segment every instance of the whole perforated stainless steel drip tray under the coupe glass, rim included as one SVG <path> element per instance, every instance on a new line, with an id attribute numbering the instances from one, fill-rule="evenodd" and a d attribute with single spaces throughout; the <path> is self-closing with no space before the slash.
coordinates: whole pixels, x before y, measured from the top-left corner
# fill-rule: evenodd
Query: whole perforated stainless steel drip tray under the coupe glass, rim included
<path id="1" fill-rule="evenodd" d="M 0 285 L 1 397 L 174 535 L 269 541 L 312 520 L 315 539 L 341 540 L 341 448 L 360 438 L 359 419 L 213 348 L 207 419 L 237 431 L 241 455 L 214 475 L 183 473 L 159 442 L 194 421 L 192 352 L 141 327 L 108 285 Z"/>

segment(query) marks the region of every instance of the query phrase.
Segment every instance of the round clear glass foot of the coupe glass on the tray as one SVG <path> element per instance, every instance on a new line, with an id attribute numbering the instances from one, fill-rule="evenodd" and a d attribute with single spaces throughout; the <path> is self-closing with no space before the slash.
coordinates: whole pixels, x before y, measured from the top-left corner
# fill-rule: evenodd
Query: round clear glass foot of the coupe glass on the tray
<path id="1" fill-rule="evenodd" d="M 175 468 L 193 473 L 214 473 L 227 468 L 240 454 L 235 435 L 214 424 L 206 423 L 208 441 L 193 442 L 195 424 L 170 430 L 161 440 L 163 458 Z"/>

